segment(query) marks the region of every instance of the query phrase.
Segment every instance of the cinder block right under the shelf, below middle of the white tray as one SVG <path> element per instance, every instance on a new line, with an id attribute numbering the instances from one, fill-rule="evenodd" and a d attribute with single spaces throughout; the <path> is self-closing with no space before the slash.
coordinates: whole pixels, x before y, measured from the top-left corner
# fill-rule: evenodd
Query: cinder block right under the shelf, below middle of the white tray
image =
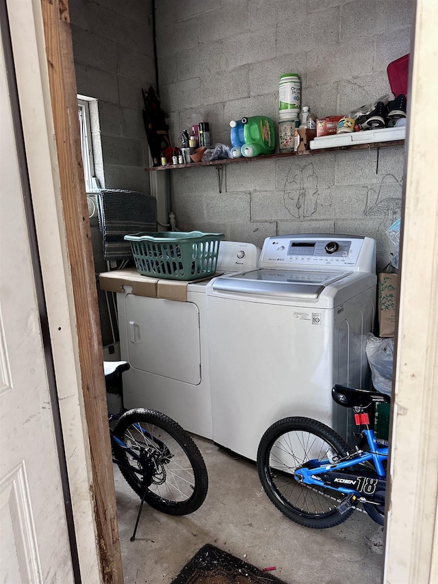
<path id="1" fill-rule="evenodd" d="M 377 175 L 377 150 L 339 152 L 335 164 L 337 185 L 368 185 L 380 181 Z"/>

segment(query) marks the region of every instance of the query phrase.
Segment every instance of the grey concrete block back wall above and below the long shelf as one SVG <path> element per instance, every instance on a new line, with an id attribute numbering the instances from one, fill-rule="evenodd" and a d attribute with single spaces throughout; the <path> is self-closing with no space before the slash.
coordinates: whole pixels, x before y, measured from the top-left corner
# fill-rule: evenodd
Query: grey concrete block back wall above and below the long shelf
<path id="1" fill-rule="evenodd" d="M 345 115 L 391 94 L 386 68 L 409 53 L 411 1 L 192 0 L 157 3 L 162 105 L 172 142 L 196 120 L 229 144 L 229 121 L 278 120 L 282 73 L 298 73 L 302 104 Z M 400 216 L 404 148 L 320 153 L 170 173 L 172 210 L 185 231 L 223 231 L 261 245 L 267 236 L 352 233 L 393 251 L 385 230 Z"/>

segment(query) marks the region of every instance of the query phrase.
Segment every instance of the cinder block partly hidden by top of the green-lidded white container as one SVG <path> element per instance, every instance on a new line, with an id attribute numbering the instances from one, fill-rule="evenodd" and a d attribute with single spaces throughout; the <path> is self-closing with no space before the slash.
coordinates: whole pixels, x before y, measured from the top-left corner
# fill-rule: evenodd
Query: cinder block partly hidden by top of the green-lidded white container
<path id="1" fill-rule="evenodd" d="M 306 79 L 306 53 L 285 55 L 270 61 L 251 64 L 249 73 L 251 97 L 273 92 L 278 94 L 280 77 L 284 73 L 298 73 L 301 88 L 303 88 Z"/>

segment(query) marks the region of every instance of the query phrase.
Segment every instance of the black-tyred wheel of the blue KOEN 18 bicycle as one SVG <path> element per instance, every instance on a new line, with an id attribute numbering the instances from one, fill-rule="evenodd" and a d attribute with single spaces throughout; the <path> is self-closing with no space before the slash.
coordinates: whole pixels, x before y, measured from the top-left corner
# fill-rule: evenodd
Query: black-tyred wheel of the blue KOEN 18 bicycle
<path id="1" fill-rule="evenodd" d="M 347 495 L 294 479 L 296 468 L 329 456 L 344 457 L 348 444 L 331 428 L 310 418 L 284 418 L 264 433 L 257 470 L 266 494 L 286 517 L 300 525 L 323 529 L 344 522 L 353 508 L 339 513 Z"/>

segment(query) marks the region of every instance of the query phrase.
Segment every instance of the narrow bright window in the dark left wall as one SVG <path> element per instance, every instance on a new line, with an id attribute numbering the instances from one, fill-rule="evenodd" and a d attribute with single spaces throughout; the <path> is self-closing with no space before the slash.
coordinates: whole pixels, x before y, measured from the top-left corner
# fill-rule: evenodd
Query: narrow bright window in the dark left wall
<path id="1" fill-rule="evenodd" d="M 99 191 L 101 186 L 104 186 L 97 100 L 78 95 L 77 105 L 85 188 L 87 193 L 93 193 Z"/>

